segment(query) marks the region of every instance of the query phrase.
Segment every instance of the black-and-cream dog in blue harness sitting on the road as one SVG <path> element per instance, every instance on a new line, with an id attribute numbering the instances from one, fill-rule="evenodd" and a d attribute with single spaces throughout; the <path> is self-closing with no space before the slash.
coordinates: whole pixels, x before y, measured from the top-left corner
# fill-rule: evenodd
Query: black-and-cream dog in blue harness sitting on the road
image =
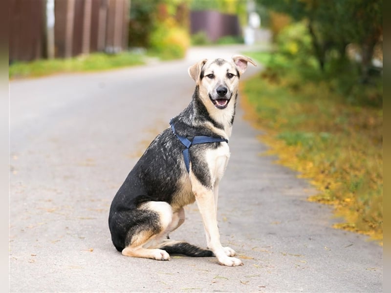
<path id="1" fill-rule="evenodd" d="M 218 184 L 227 166 L 239 78 L 250 58 L 203 59 L 189 67 L 195 81 L 190 104 L 145 150 L 114 196 L 109 211 L 111 240 L 123 255 L 170 260 L 171 254 L 216 256 L 241 266 L 223 247 L 217 227 Z M 207 249 L 170 239 L 185 221 L 184 206 L 196 202 Z"/>

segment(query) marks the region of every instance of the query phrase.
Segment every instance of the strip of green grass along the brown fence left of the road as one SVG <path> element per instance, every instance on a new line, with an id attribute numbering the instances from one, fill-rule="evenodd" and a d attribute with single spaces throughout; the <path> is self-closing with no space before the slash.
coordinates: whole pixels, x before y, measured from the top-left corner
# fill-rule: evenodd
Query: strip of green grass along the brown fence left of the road
<path id="1" fill-rule="evenodd" d="M 143 55 L 131 52 L 119 54 L 91 53 L 69 59 L 40 59 L 9 65 L 9 78 L 41 77 L 56 73 L 109 70 L 144 64 Z"/>

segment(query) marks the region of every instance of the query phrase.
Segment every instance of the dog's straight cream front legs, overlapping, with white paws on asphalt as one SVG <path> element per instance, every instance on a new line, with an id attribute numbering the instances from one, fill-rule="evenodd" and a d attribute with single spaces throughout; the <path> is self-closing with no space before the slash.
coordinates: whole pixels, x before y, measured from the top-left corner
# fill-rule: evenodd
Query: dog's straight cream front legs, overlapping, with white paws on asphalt
<path id="1" fill-rule="evenodd" d="M 220 235 L 217 227 L 217 210 L 215 204 L 214 191 L 203 186 L 198 180 L 192 180 L 195 201 L 201 213 L 204 224 L 206 239 L 209 240 L 208 248 L 216 255 L 218 263 L 224 266 L 242 266 L 243 263 L 236 257 L 235 251 L 226 247 L 223 248 L 220 243 Z"/>

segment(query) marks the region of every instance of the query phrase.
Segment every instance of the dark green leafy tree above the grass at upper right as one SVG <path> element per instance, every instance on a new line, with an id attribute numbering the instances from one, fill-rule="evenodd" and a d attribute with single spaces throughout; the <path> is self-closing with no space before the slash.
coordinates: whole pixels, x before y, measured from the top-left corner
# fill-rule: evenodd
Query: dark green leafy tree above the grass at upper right
<path id="1" fill-rule="evenodd" d="M 293 20 L 308 21 L 313 52 L 321 70 L 330 58 L 346 58 L 346 46 L 361 48 L 361 73 L 369 77 L 375 45 L 383 34 L 382 0 L 258 0 L 265 7 L 289 15 Z M 337 52 L 329 57 L 330 52 Z"/>

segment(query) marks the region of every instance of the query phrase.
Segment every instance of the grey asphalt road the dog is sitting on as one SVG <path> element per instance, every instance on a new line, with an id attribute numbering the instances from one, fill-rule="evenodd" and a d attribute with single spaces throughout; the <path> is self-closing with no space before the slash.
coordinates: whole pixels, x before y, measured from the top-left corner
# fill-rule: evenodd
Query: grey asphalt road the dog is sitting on
<path id="1" fill-rule="evenodd" d="M 151 139 L 189 103 L 187 67 L 241 49 L 193 49 L 183 61 L 11 82 L 11 292 L 382 292 L 381 247 L 330 228 L 330 208 L 305 200 L 311 187 L 260 156 L 266 148 L 240 107 L 218 218 L 222 243 L 244 266 L 129 258 L 112 246 L 111 199 Z M 205 245 L 195 205 L 171 236 Z"/>

